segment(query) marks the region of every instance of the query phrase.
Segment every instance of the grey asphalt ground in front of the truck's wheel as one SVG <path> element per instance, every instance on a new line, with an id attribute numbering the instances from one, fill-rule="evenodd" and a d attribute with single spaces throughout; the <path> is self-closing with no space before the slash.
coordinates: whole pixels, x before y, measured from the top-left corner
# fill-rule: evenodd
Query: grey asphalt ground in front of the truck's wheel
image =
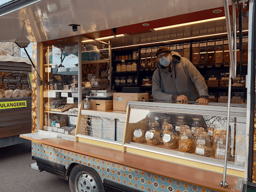
<path id="1" fill-rule="evenodd" d="M 70 192 L 69 182 L 30 168 L 31 143 L 0 148 L 0 192 Z"/>

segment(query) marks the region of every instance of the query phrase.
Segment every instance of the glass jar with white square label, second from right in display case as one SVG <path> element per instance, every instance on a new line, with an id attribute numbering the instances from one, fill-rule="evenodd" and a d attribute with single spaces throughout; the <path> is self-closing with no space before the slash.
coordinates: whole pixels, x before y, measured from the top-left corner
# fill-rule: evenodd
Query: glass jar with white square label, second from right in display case
<path id="1" fill-rule="evenodd" d="M 195 140 L 195 152 L 197 155 L 209 156 L 210 138 L 206 132 L 199 132 Z"/>

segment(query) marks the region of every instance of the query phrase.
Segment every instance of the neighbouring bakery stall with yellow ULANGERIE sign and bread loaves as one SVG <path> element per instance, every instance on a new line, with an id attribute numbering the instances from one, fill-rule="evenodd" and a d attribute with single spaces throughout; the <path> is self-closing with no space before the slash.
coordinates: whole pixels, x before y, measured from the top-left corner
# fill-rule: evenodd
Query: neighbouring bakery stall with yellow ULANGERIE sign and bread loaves
<path id="1" fill-rule="evenodd" d="M 0 147 L 28 142 L 20 134 L 31 133 L 31 62 L 0 56 Z"/>

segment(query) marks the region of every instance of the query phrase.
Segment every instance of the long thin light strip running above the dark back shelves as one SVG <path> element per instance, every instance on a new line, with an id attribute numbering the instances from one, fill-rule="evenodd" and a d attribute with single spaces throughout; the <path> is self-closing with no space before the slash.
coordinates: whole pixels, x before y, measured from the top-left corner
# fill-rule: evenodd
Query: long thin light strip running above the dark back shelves
<path id="1" fill-rule="evenodd" d="M 248 32 L 248 30 L 243 30 L 242 32 Z M 200 35 L 200 36 L 194 36 L 194 37 L 177 38 L 177 39 L 163 40 L 163 41 L 158 41 L 158 42 L 148 42 L 146 44 L 137 44 L 137 45 L 131 45 L 131 46 L 114 47 L 114 48 L 111 48 L 111 49 L 121 49 L 121 48 L 128 48 L 128 47 L 137 47 L 137 46 L 162 44 L 164 42 L 173 42 L 173 41 L 179 41 L 179 40 L 190 40 L 190 39 L 196 39 L 196 38 L 202 38 L 202 37 L 212 37 L 212 36 L 219 36 L 219 35 L 226 35 L 226 34 L 227 34 L 227 32 L 216 33 L 216 34 L 209 34 L 209 35 Z"/>

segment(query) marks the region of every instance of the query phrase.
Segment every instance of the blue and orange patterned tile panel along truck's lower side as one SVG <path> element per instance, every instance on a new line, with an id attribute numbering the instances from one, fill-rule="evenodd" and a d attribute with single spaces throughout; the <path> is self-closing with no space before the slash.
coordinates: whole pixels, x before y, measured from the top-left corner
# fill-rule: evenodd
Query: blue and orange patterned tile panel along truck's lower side
<path id="1" fill-rule="evenodd" d="M 32 142 L 32 156 L 61 163 L 66 168 L 73 162 L 86 165 L 94 168 L 102 180 L 108 179 L 146 192 L 217 192 L 212 189 L 36 142 Z"/>

